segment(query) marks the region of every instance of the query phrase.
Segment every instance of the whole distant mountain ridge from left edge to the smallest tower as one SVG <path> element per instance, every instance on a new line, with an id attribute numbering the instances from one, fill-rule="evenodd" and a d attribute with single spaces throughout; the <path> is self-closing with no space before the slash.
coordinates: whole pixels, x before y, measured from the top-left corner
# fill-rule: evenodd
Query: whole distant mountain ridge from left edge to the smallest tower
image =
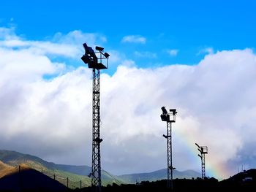
<path id="1" fill-rule="evenodd" d="M 86 165 L 67 165 L 67 164 L 54 164 L 39 158 L 35 155 L 19 153 L 14 150 L 0 150 L 0 161 L 10 166 L 18 166 L 19 164 L 27 164 L 39 172 L 43 172 L 48 176 L 53 174 L 60 175 L 61 177 L 71 177 L 73 180 L 83 180 L 86 185 L 91 184 L 91 178 L 87 177 L 91 172 L 91 167 Z M 200 173 L 193 170 L 179 172 L 173 170 L 173 178 L 187 178 L 200 177 Z M 112 183 L 125 184 L 137 183 L 141 181 L 155 181 L 165 180 L 167 178 L 167 169 L 159 169 L 154 172 L 135 173 L 135 174 L 121 174 L 114 175 L 102 169 L 102 184 L 108 185 Z"/>

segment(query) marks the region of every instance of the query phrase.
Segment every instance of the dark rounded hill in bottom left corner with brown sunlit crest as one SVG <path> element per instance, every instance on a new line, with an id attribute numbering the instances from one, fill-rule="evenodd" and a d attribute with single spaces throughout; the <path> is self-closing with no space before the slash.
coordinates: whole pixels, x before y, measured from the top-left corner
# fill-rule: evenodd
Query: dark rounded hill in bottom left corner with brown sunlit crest
<path id="1" fill-rule="evenodd" d="M 21 164 L 0 179 L 0 191 L 67 191 L 67 188 L 45 174 Z"/>

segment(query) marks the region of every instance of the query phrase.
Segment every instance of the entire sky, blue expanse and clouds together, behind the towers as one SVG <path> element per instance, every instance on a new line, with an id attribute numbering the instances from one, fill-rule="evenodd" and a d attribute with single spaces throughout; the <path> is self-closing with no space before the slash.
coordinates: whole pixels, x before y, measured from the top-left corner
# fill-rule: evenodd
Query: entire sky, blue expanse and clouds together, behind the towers
<path id="1" fill-rule="evenodd" d="M 2 1 L 0 146 L 91 164 L 86 42 L 110 53 L 101 76 L 103 169 L 165 168 L 162 106 L 178 111 L 176 169 L 200 172 L 195 142 L 208 145 L 210 177 L 255 167 L 255 8 L 250 0 Z"/>

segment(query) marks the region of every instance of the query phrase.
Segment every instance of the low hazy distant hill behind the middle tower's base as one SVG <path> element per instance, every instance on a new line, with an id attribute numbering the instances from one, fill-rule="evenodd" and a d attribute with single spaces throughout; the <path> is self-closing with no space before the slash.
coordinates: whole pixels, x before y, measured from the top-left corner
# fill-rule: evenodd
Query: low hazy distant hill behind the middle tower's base
<path id="1" fill-rule="evenodd" d="M 184 172 L 178 172 L 177 170 L 173 170 L 173 178 L 178 179 L 191 179 L 192 177 L 197 178 L 200 177 L 200 173 L 187 170 Z M 155 172 L 148 173 L 138 173 L 138 174 L 123 174 L 119 175 L 118 178 L 124 180 L 126 183 L 140 183 L 141 181 L 156 181 L 156 180 L 165 180 L 167 178 L 167 169 L 160 169 Z"/>

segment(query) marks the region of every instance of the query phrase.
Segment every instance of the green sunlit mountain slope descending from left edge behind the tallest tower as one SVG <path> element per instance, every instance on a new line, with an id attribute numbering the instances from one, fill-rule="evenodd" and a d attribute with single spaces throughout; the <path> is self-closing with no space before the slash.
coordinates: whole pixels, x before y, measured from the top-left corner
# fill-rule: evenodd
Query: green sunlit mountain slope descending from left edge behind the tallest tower
<path id="1" fill-rule="evenodd" d="M 80 185 L 80 180 L 83 183 L 83 186 L 91 185 L 91 178 L 87 177 L 91 172 L 91 167 L 89 166 L 72 166 L 72 165 L 61 165 L 54 164 L 48 161 L 42 160 L 34 155 L 28 155 L 23 153 L 18 153 L 11 150 L 0 150 L 0 161 L 3 161 L 4 164 L 10 166 L 18 166 L 19 164 L 26 164 L 32 169 L 36 169 L 39 172 L 42 172 L 49 177 L 60 178 L 61 183 L 65 183 L 67 177 L 69 181 L 74 181 L 76 185 Z M 112 183 L 121 184 L 121 180 L 118 180 L 118 177 L 113 174 L 109 174 L 102 170 L 102 184 L 108 185 Z"/>

